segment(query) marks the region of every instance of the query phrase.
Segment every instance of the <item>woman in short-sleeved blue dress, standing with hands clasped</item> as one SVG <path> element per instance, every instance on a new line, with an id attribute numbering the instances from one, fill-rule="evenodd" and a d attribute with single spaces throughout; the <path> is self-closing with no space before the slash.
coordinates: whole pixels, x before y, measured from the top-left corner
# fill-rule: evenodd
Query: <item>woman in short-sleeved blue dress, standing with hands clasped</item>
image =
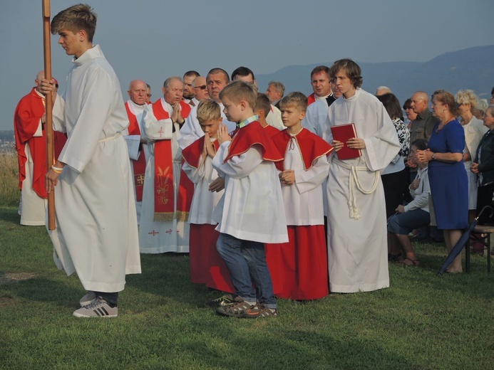
<path id="1" fill-rule="evenodd" d="M 468 224 L 468 177 L 463 166 L 465 131 L 456 120 L 458 108 L 451 93 L 436 90 L 431 110 L 438 118 L 428 149 L 417 152 L 420 162 L 428 161 L 429 182 L 436 223 L 443 230 L 448 252 Z M 461 273 L 461 255 L 449 265 L 448 273 Z"/>

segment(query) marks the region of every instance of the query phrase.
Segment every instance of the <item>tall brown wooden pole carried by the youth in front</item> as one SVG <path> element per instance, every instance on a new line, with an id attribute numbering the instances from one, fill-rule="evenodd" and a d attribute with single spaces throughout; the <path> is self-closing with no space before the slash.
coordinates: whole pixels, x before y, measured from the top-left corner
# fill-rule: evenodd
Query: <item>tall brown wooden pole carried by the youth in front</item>
<path id="1" fill-rule="evenodd" d="M 43 54 L 45 78 L 51 80 L 51 33 L 50 33 L 50 0 L 43 0 Z M 55 164 L 53 145 L 53 102 L 51 94 L 46 95 L 46 171 Z M 48 194 L 48 230 L 55 230 L 55 191 Z"/>

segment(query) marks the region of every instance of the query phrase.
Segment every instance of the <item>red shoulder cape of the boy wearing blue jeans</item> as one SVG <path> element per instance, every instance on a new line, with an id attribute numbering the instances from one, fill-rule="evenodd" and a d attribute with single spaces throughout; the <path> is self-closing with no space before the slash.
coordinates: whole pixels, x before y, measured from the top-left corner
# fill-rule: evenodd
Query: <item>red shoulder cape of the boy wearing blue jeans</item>
<path id="1" fill-rule="evenodd" d="M 272 139 L 269 137 L 264 127 L 262 127 L 258 121 L 254 121 L 237 130 L 230 143 L 228 156 L 223 163 L 226 163 L 228 159 L 232 157 L 244 154 L 255 144 L 261 146 L 262 159 L 264 159 L 264 161 L 279 162 L 283 160 L 282 154 L 279 154 L 279 150 L 274 146 Z"/>

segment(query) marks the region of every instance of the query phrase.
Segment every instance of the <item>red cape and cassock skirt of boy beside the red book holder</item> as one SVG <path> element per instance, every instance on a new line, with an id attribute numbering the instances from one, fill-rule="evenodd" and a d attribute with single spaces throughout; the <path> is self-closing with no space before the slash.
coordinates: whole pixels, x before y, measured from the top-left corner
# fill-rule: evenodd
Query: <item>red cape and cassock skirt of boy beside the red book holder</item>
<path id="1" fill-rule="evenodd" d="M 280 152 L 285 153 L 290 135 L 282 131 L 273 137 Z M 304 168 L 332 151 L 331 145 L 307 129 L 297 134 Z M 284 162 L 277 162 L 284 170 Z M 322 201 L 322 199 L 321 199 Z M 310 207 L 310 204 L 307 204 Z M 329 294 L 328 260 L 324 225 L 287 226 L 288 243 L 267 244 L 266 260 L 271 273 L 274 295 L 292 300 L 317 300 Z"/>

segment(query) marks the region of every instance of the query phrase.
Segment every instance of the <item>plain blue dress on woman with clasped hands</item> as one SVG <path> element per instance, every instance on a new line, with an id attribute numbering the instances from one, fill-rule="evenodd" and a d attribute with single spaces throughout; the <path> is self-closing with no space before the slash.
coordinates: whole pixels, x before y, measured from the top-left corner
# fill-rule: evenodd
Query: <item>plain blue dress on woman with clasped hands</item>
<path id="1" fill-rule="evenodd" d="M 448 122 L 443 129 L 433 129 L 428 147 L 434 153 L 462 153 L 465 130 L 460 122 Z M 462 229 L 468 225 L 468 177 L 460 162 L 431 161 L 428 164 L 431 195 L 436 222 L 441 229 Z"/>

